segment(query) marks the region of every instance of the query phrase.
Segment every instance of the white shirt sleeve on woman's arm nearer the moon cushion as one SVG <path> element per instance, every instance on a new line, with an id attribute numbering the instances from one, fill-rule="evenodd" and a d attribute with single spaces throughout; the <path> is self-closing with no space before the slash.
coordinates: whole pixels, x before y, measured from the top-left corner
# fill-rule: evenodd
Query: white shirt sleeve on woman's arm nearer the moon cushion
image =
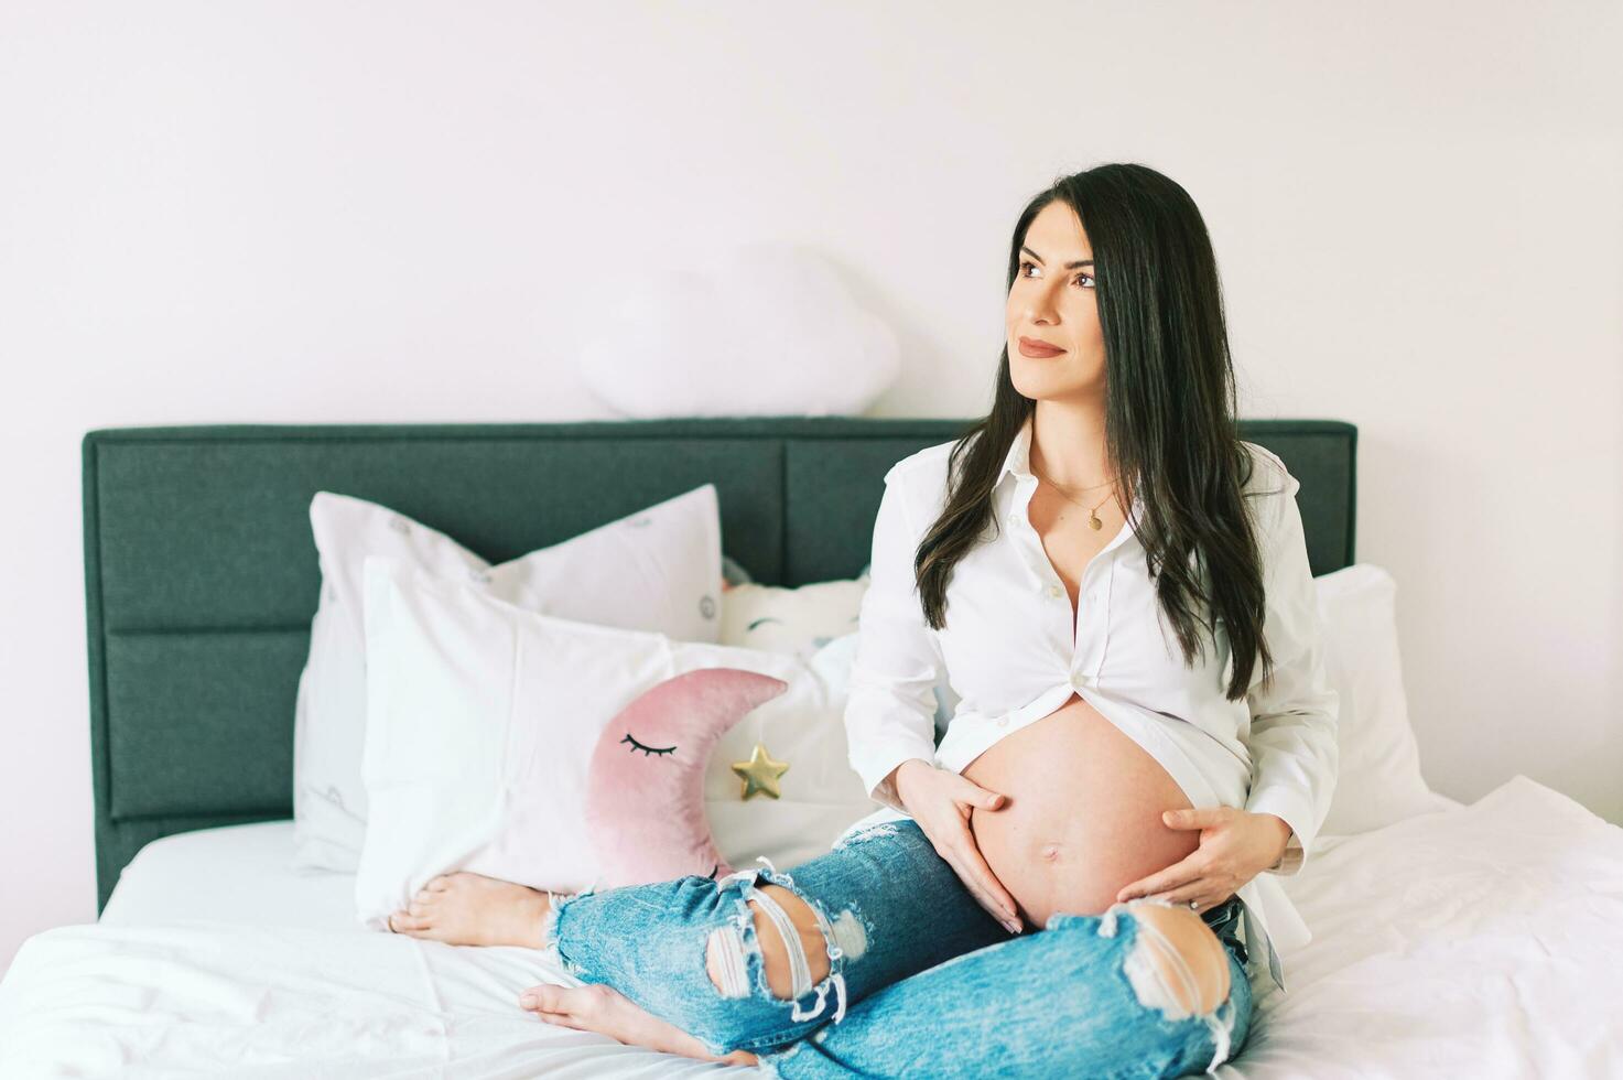
<path id="1" fill-rule="evenodd" d="M 873 562 L 846 702 L 850 767 L 875 802 L 902 814 L 894 784 L 885 781 L 907 758 L 935 763 L 935 684 L 945 667 L 914 583 L 920 534 L 904 499 L 893 469 L 873 521 Z"/>

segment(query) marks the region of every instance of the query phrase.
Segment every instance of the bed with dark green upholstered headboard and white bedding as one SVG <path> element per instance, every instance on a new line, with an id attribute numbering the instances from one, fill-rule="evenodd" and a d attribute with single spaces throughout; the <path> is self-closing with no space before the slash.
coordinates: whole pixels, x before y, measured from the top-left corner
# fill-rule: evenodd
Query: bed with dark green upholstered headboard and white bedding
<path id="1" fill-rule="evenodd" d="M 101 921 L 0 983 L 0 1077 L 682 1077 L 758 1070 L 536 1022 L 539 953 L 362 929 L 354 879 L 291 869 L 294 689 L 320 572 L 315 490 L 492 560 L 714 482 L 766 583 L 855 577 L 880 477 L 966 422 L 123 427 L 84 437 Z M 1302 479 L 1316 575 L 1354 560 L 1357 432 L 1250 421 Z M 1225 1077 L 1623 1075 L 1623 830 L 1514 776 L 1470 806 L 1324 835 L 1282 879 L 1313 929 L 1258 984 Z"/>

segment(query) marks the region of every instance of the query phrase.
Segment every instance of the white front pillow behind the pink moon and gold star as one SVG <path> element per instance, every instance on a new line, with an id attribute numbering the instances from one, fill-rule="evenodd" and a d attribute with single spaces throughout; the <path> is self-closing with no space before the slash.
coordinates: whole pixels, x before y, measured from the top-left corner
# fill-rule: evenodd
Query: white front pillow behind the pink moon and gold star
<path id="1" fill-rule="evenodd" d="M 704 812 L 732 866 L 797 866 L 873 809 L 846 754 L 855 635 L 807 663 L 544 616 L 394 559 L 367 559 L 365 588 L 372 822 L 355 903 L 373 929 L 450 870 L 557 892 L 592 885 L 599 861 L 570 822 L 584 812 L 599 734 L 641 693 L 701 667 L 789 684 L 706 765 Z M 790 765 L 781 799 L 742 801 L 730 763 L 756 742 Z"/>

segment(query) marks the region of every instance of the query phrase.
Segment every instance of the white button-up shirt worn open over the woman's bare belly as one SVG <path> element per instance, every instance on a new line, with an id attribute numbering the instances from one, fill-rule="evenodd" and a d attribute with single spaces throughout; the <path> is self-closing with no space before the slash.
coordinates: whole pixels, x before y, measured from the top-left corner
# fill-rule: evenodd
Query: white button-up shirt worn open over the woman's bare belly
<path id="1" fill-rule="evenodd" d="M 873 525 L 873 562 L 863 594 L 857 658 L 846 706 L 852 768 L 888 809 L 906 810 L 889 783 L 907 758 L 962 771 L 998 739 L 1048 716 L 1078 693 L 1144 747 L 1195 807 L 1232 806 L 1276 814 L 1292 828 L 1285 854 L 1238 890 L 1245 931 L 1284 989 L 1277 948 L 1311 934 L 1276 875 L 1295 874 L 1313 853 L 1336 784 L 1337 693 L 1324 674 L 1323 627 L 1295 492 L 1300 482 L 1274 453 L 1245 443 L 1256 466 L 1246 505 L 1258 525 L 1274 682 L 1263 664 L 1240 702 L 1224 697 L 1232 676 L 1229 633 L 1217 624 L 1216 654 L 1183 663 L 1164 620 L 1133 523 L 1087 564 L 1073 627 L 1071 599 L 1031 525 L 1031 419 L 1010 447 L 993 489 L 995 538 L 959 560 L 948 585 L 948 624 L 932 629 L 914 585 L 914 554 L 946 499 L 948 451 L 927 447 L 885 474 Z M 958 710 L 935 745 L 935 687 Z"/>

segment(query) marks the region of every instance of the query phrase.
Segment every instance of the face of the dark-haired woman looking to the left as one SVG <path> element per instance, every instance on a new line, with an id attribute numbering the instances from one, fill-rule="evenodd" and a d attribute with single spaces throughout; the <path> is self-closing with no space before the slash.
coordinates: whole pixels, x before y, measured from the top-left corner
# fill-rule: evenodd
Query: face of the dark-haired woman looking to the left
<path id="1" fill-rule="evenodd" d="M 1005 309 L 1014 388 L 1034 400 L 1102 396 L 1105 344 L 1094 297 L 1094 255 L 1076 211 L 1058 200 L 1044 206 L 1026 229 L 1019 258 Z M 1021 338 L 1065 352 L 1026 356 Z"/>

